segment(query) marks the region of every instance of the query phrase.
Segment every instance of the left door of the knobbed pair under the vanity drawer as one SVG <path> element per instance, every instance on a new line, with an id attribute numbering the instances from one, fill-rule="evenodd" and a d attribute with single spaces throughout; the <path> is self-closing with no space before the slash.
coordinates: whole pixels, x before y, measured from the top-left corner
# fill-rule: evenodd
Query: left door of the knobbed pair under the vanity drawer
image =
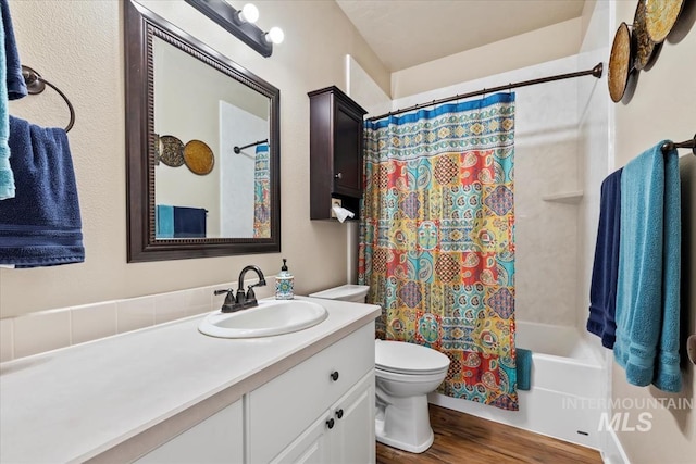
<path id="1" fill-rule="evenodd" d="M 302 435 L 291 442 L 272 463 L 277 464 L 327 464 L 328 453 L 328 413 L 316 419 Z"/>

